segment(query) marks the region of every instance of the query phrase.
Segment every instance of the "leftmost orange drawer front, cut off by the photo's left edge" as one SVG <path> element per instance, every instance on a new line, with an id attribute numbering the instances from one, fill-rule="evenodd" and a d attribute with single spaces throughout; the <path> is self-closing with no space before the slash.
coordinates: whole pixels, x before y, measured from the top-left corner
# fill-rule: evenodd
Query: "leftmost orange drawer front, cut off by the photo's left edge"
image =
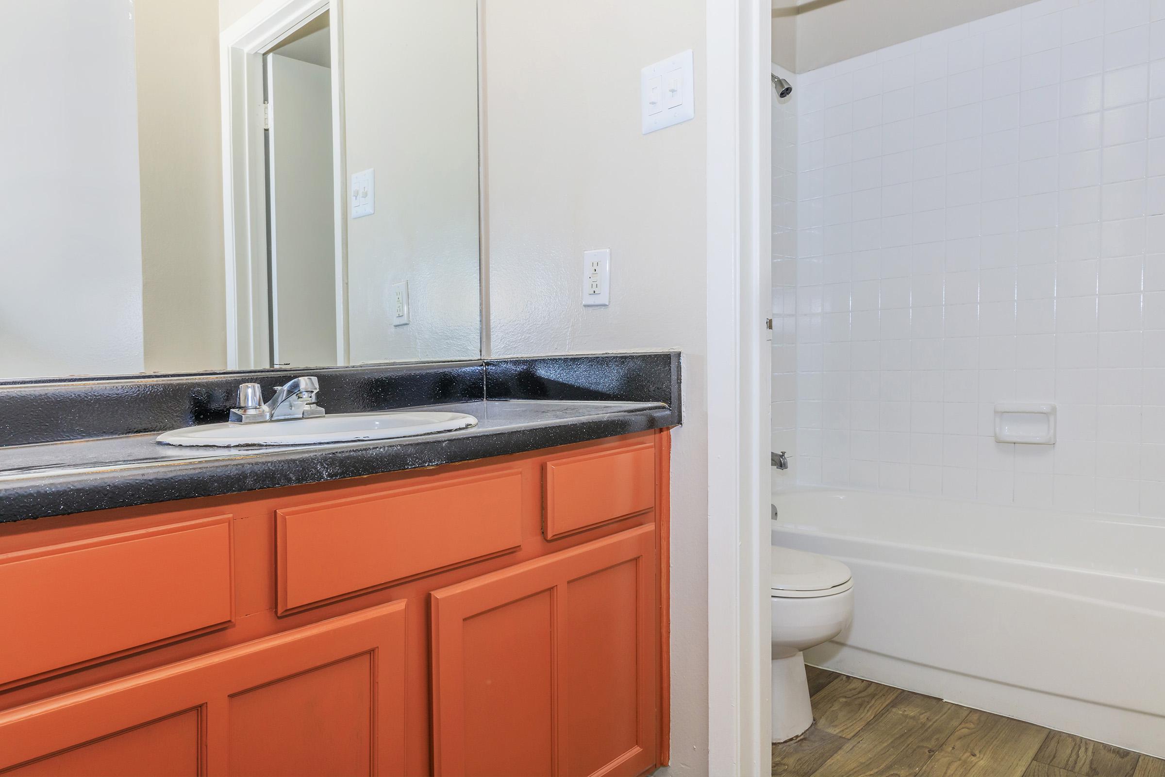
<path id="1" fill-rule="evenodd" d="M 0 686 L 233 620 L 231 516 L 0 555 Z"/>

